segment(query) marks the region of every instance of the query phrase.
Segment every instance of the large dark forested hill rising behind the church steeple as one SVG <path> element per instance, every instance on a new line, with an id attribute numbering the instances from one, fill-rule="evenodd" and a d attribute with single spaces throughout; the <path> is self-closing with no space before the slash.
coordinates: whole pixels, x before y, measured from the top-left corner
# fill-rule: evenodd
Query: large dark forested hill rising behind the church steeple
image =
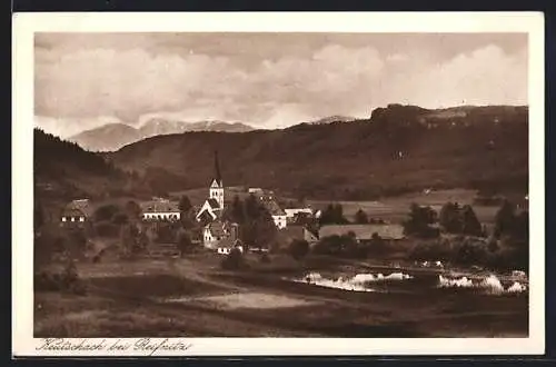
<path id="1" fill-rule="evenodd" d="M 450 187 L 525 191 L 527 117 L 527 107 L 390 105 L 367 120 L 160 136 L 106 157 L 122 169 L 166 172 L 172 178 L 168 185 L 202 187 L 217 149 L 226 185 L 328 199 Z"/>

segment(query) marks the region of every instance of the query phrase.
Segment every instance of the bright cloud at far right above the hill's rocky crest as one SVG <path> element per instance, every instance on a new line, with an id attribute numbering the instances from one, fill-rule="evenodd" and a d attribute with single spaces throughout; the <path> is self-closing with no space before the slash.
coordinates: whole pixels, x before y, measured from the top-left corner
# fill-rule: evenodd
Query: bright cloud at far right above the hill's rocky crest
<path id="1" fill-rule="evenodd" d="M 441 63 L 415 62 L 385 93 L 429 108 L 458 105 L 527 105 L 527 57 L 487 46 Z"/>

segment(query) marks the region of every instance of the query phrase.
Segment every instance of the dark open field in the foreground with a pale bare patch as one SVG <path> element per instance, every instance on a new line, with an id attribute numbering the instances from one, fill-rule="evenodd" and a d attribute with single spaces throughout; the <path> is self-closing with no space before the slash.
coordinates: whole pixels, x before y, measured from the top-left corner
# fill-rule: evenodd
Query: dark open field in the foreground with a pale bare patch
<path id="1" fill-rule="evenodd" d="M 175 260 L 83 264 L 88 294 L 37 291 L 37 337 L 497 337 L 526 336 L 528 296 L 484 295 L 419 284 L 356 292 L 292 282 L 308 270 L 348 264 L 279 256 L 268 265 L 219 269 L 201 254 Z M 351 268 L 357 269 L 357 265 Z M 359 268 L 360 269 L 360 268 Z M 360 269 L 361 270 L 361 269 Z M 361 270 L 361 271 L 369 271 Z M 387 269 L 381 272 L 388 274 Z M 426 275 L 426 274 L 424 274 Z M 417 279 L 417 278 L 416 278 Z M 426 280 L 429 279 L 429 280 Z"/>

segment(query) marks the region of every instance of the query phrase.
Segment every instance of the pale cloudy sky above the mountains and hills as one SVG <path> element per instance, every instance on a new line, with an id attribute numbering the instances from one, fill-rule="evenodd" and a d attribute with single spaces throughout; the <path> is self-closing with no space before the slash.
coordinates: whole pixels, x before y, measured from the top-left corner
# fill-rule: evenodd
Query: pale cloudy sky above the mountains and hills
<path id="1" fill-rule="evenodd" d="M 36 125 L 281 128 L 388 103 L 527 105 L 525 33 L 36 33 Z"/>

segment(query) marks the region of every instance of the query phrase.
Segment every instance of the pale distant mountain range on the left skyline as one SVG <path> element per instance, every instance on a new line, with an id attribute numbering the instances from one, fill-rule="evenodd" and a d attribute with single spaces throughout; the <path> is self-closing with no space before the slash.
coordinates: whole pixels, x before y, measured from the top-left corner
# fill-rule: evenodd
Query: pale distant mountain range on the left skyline
<path id="1" fill-rule="evenodd" d="M 139 128 L 126 123 L 108 123 L 82 131 L 68 138 L 69 141 L 91 151 L 118 150 L 129 143 L 159 136 L 187 131 L 247 132 L 255 128 L 241 122 L 199 121 L 185 122 L 167 119 L 151 119 Z"/>

